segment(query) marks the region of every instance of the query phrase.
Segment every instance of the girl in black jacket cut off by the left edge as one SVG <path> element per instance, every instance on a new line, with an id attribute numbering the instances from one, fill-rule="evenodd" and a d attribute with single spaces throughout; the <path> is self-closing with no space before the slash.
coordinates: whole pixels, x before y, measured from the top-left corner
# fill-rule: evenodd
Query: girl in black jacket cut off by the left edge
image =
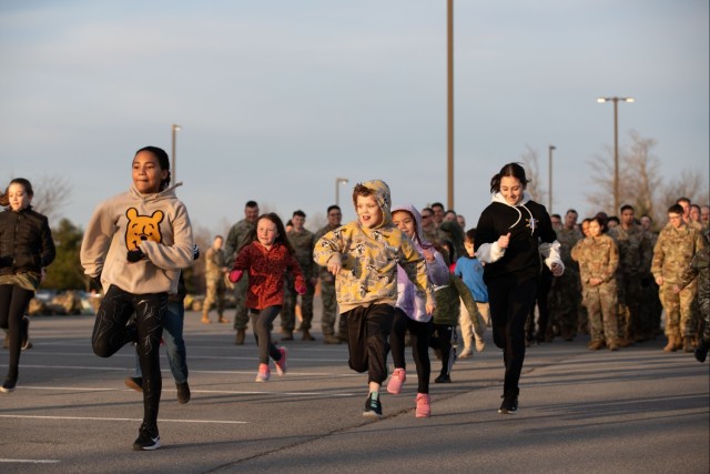
<path id="1" fill-rule="evenodd" d="M 33 195 L 24 178 L 12 180 L 0 194 L 0 205 L 8 206 L 0 212 L 0 327 L 10 335 L 8 376 L 0 392 L 12 392 L 18 382 L 23 315 L 42 269 L 54 261 L 52 231 L 47 218 L 32 210 Z"/>

